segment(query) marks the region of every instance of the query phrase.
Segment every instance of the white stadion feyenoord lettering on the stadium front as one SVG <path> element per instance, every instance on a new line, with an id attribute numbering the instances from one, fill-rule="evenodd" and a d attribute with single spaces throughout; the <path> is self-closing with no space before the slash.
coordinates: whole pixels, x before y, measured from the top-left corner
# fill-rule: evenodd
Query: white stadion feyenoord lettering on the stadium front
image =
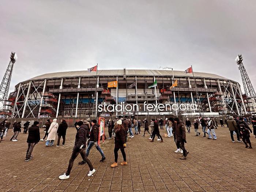
<path id="1" fill-rule="evenodd" d="M 196 111 L 197 110 L 197 104 L 193 103 L 180 103 L 180 104 L 168 104 L 168 103 L 146 103 L 146 101 L 143 104 L 144 111 Z M 104 105 L 98 105 L 98 112 L 131 112 L 131 111 L 142 111 L 140 110 L 139 106 L 137 104 L 124 104 L 124 102 L 121 102 L 121 104 L 106 104 L 104 102 Z"/>

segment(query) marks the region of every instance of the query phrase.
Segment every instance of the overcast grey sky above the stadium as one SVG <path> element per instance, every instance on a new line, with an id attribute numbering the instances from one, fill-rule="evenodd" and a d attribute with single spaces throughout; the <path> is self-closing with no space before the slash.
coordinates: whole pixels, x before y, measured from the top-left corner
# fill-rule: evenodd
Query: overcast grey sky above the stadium
<path id="1" fill-rule="evenodd" d="M 10 91 L 37 75 L 99 69 L 208 72 L 256 89 L 255 0 L 11 1 L 0 6 L 0 78 L 18 60 Z"/>

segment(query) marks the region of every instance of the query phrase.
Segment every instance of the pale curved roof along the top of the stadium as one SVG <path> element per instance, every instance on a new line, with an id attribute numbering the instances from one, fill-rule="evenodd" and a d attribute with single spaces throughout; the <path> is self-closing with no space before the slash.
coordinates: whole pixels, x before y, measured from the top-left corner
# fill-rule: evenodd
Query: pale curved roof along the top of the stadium
<path id="1" fill-rule="evenodd" d="M 192 73 L 185 73 L 184 71 L 173 71 L 174 76 L 184 76 L 192 77 Z M 98 76 L 123 76 L 124 69 L 114 69 L 114 70 L 98 70 Z M 150 70 L 150 69 L 126 69 L 126 76 L 172 76 L 171 70 Z M 29 80 L 39 80 L 39 79 L 52 79 L 52 78 L 68 78 L 68 77 L 79 77 L 79 76 L 96 76 L 96 72 L 88 71 L 68 71 L 68 72 L 56 72 L 44 75 L 39 75 Z M 213 79 L 227 79 L 219 75 L 208 74 L 202 72 L 194 72 L 194 76 L 197 78 L 213 78 Z"/>

